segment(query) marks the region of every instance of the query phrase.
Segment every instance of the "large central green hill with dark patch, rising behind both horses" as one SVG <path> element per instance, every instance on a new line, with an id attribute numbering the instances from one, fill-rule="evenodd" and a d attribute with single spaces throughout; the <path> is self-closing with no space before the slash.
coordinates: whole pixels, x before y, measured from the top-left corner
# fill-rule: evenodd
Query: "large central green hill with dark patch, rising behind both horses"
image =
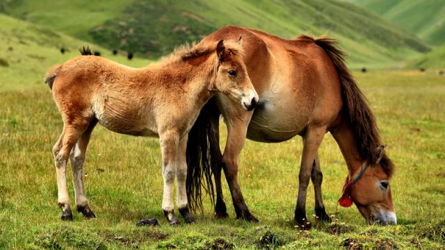
<path id="1" fill-rule="evenodd" d="M 372 12 L 340 1 L 8 1 L 0 10 L 108 49 L 155 58 L 177 44 L 200 40 L 227 24 L 293 38 L 300 33 L 338 38 L 360 67 L 394 66 L 428 45 Z"/>

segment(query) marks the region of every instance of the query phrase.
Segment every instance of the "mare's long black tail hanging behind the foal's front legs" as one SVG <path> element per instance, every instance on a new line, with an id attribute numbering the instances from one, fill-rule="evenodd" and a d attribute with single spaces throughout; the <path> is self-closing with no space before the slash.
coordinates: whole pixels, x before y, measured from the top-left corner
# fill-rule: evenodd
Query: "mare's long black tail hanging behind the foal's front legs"
<path id="1" fill-rule="evenodd" d="M 215 202 L 213 190 L 213 167 L 220 164 L 218 124 L 219 110 L 213 101 L 207 102 L 188 133 L 187 142 L 187 199 L 191 210 L 202 211 L 202 188 L 209 194 L 211 204 Z"/>

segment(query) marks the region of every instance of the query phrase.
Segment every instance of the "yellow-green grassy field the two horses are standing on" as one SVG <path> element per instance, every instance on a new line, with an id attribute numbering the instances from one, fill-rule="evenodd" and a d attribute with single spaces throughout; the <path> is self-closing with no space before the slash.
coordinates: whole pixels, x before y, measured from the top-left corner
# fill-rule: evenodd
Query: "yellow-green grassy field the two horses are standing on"
<path id="1" fill-rule="evenodd" d="M 225 187 L 230 219 L 214 219 L 206 202 L 195 224 L 172 227 L 161 212 L 158 140 L 118 135 L 100 126 L 92 135 L 84 168 L 87 195 L 97 218 L 87 220 L 75 213 L 73 222 L 61 222 L 51 148 L 62 122 L 51 92 L 42 76 L 27 81 L 22 77 L 24 82 L 16 88 L 19 83 L 14 76 L 0 69 L 0 248 L 444 249 L 443 76 L 428 71 L 355 74 L 378 117 L 389 156 L 398 166 L 391 182 L 398 226 L 368 226 L 357 209 L 337 207 L 346 165 L 327 134 L 319 154 L 325 175 L 325 206 L 327 213 L 335 216 L 335 223 L 298 231 L 291 222 L 300 138 L 281 144 L 245 144 L 239 178 L 259 224 L 234 219 Z M 70 194 L 73 199 L 72 185 Z M 311 218 L 313 196 L 309 189 Z M 161 226 L 135 226 L 148 217 L 158 218 Z"/>

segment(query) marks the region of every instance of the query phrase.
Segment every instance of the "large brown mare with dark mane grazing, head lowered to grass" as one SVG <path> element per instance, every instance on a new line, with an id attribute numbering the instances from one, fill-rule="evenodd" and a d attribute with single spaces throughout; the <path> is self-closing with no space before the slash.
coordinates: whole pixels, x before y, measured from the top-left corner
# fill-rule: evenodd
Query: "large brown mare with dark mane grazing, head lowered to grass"
<path id="1" fill-rule="evenodd" d="M 348 71 L 337 41 L 300 36 L 284 40 L 275 35 L 237 26 L 227 26 L 201 41 L 211 44 L 220 39 L 243 38 L 243 60 L 259 103 L 254 111 L 243 112 L 227 97 L 217 94 L 202 109 L 195 126 L 211 124 L 205 130 L 209 140 L 207 155 L 197 161 L 210 166 L 216 185 L 216 217 L 227 217 L 221 190 L 224 169 L 236 217 L 257 219 L 249 212 L 238 185 L 238 157 L 245 138 L 257 142 L 283 142 L 296 135 L 302 137 L 303 150 L 298 176 L 299 188 L 295 222 L 310 226 L 306 217 L 306 193 L 312 179 L 315 190 L 315 213 L 330 221 L 321 195 L 323 175 L 318 161 L 318 146 L 325 133 L 337 141 L 348 166 L 341 206 L 353 202 L 362 216 L 373 224 L 396 224 L 389 178 L 394 165 L 381 147 L 380 135 L 371 109 Z M 218 145 L 218 117 L 227 124 L 227 143 L 223 155 Z M 200 133 L 192 128 L 191 134 Z M 195 138 L 194 138 L 195 139 Z M 193 139 L 193 140 L 194 140 Z M 193 141 L 188 147 L 196 147 Z M 188 149 L 193 152 L 193 149 Z M 212 189 L 211 189 L 212 190 Z M 188 194 L 192 201 L 196 192 Z M 213 197 L 212 197 L 213 199 Z"/>

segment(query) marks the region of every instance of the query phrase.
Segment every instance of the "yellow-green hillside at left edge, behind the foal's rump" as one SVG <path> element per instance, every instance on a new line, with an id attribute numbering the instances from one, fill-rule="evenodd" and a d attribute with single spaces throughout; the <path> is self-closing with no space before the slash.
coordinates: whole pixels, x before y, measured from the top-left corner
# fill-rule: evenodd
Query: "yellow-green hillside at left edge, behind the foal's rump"
<path id="1" fill-rule="evenodd" d="M 68 35 L 51 31 L 0 14 L 0 91 L 47 88 L 44 72 L 79 55 L 79 47 L 88 44 Z M 66 52 L 60 53 L 64 47 Z M 113 56 L 110 51 L 92 45 L 102 56 L 125 65 L 142 67 L 148 60 L 127 60 L 125 55 Z"/>

